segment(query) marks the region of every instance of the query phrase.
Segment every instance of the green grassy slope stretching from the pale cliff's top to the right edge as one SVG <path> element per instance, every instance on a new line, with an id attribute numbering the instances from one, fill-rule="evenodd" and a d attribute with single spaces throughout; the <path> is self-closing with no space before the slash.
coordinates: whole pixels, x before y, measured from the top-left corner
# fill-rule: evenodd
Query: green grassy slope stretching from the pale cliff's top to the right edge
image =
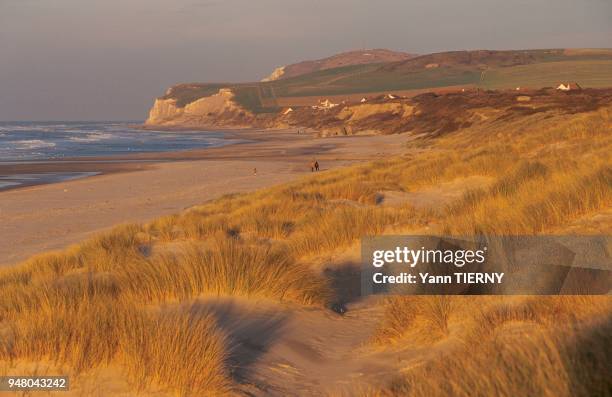
<path id="1" fill-rule="evenodd" d="M 440 67 L 425 65 L 440 62 Z M 483 70 L 484 78 L 481 76 Z M 436 88 L 472 84 L 481 88 L 539 88 L 560 82 L 584 87 L 612 86 L 612 52 L 530 50 L 449 52 L 390 64 L 352 65 L 266 83 L 184 84 L 165 98 L 178 106 L 211 95 L 222 86 L 236 92 L 236 101 L 255 113 L 277 111 L 275 98 L 326 96 Z"/>

